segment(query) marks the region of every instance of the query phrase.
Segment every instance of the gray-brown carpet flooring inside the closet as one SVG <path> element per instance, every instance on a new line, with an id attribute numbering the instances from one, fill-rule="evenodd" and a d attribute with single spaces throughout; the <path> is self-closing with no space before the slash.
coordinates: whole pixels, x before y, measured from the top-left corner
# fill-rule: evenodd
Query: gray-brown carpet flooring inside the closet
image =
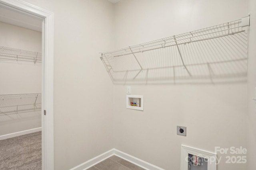
<path id="1" fill-rule="evenodd" d="M 41 170 L 41 132 L 0 141 L 0 170 Z"/>

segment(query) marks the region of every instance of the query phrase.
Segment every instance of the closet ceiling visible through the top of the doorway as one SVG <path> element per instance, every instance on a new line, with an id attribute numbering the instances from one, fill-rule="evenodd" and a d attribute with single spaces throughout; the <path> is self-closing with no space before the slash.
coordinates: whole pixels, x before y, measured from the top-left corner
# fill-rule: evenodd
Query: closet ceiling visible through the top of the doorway
<path id="1" fill-rule="evenodd" d="M 0 22 L 42 32 L 42 20 L 0 6 Z"/>

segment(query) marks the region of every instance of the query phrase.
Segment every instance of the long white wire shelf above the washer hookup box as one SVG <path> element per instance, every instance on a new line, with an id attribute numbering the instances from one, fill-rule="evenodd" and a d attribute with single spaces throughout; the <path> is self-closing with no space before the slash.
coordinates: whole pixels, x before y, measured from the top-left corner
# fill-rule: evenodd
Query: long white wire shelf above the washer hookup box
<path id="1" fill-rule="evenodd" d="M 247 16 L 238 20 L 214 25 L 211 27 L 206 27 L 203 29 L 198 29 L 196 31 L 173 35 L 171 37 L 166 37 L 146 43 L 141 43 L 138 45 L 132 45 L 129 47 L 107 51 L 104 53 L 100 53 L 100 58 L 109 73 L 110 70 L 115 72 L 114 58 L 122 56 L 129 56 L 135 58 L 136 62 L 140 66 L 140 71 L 143 71 L 143 65 L 137 59 L 137 55 L 139 55 L 139 53 L 174 46 L 178 51 L 178 55 L 180 57 L 183 68 L 186 69 L 188 74 L 191 76 L 190 72 L 186 68 L 186 62 L 184 62 L 182 53 L 180 51 L 181 45 L 243 33 L 245 31 L 243 27 L 249 26 L 249 20 L 250 16 Z M 138 74 L 136 76 L 138 76 Z"/>

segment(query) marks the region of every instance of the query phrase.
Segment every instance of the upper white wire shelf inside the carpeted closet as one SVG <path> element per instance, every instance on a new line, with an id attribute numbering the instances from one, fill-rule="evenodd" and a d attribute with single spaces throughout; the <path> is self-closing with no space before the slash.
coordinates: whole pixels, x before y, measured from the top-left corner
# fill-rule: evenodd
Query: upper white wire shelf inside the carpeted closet
<path id="1" fill-rule="evenodd" d="M 16 61 L 32 61 L 42 63 L 42 53 L 0 46 L 0 59 L 11 59 Z"/>

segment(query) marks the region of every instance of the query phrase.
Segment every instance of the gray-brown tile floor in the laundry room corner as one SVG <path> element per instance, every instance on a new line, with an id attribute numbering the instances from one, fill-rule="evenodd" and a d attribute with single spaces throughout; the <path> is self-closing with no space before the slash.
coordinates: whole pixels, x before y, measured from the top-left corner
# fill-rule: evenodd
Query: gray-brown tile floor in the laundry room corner
<path id="1" fill-rule="evenodd" d="M 118 156 L 111 156 L 87 170 L 145 170 Z"/>

